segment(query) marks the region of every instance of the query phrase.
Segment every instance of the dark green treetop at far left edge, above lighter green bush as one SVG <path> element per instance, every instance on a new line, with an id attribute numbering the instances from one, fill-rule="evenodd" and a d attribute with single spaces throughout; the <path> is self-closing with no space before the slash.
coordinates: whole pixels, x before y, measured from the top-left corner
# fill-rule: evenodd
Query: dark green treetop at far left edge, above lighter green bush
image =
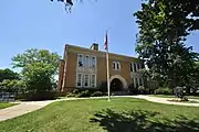
<path id="1" fill-rule="evenodd" d="M 0 82 L 2 82 L 4 79 L 19 79 L 20 76 L 18 73 L 14 73 L 10 70 L 9 68 L 0 69 Z"/>

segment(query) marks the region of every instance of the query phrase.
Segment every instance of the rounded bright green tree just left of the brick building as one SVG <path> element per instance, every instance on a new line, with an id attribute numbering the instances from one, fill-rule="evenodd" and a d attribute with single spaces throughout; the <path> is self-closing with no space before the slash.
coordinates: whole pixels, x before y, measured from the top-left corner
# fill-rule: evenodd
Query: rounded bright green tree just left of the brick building
<path id="1" fill-rule="evenodd" d="M 12 58 L 13 67 L 22 68 L 22 79 L 29 92 L 50 91 L 57 74 L 60 56 L 46 50 L 31 48 Z"/>

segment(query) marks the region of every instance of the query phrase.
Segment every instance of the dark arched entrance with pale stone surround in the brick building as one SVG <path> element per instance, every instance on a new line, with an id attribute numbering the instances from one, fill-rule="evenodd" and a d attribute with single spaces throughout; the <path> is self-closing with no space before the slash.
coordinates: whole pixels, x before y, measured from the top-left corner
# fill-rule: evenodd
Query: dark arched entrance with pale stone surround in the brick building
<path id="1" fill-rule="evenodd" d="M 127 89 L 127 82 L 121 75 L 113 75 L 109 78 L 111 91 L 124 91 Z"/>

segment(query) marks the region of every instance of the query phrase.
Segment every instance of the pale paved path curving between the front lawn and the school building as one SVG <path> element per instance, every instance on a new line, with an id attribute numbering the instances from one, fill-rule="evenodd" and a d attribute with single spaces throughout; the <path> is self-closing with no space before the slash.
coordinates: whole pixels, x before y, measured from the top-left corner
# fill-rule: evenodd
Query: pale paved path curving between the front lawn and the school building
<path id="1" fill-rule="evenodd" d="M 153 102 L 159 103 L 167 103 L 167 105 L 180 105 L 180 106 L 192 106 L 199 107 L 199 103 L 184 103 L 184 102 L 169 102 L 168 99 L 171 98 L 159 98 L 159 97 L 149 97 L 149 96 L 114 96 L 114 97 L 130 97 L 130 98 L 138 98 L 138 99 L 146 99 Z M 55 101 L 63 101 L 63 100 L 77 100 L 77 99 L 97 99 L 97 98 L 107 98 L 107 97 L 95 97 L 95 98 L 65 98 L 65 99 L 57 99 L 57 100 L 46 100 L 46 101 L 24 101 L 19 102 L 20 105 L 15 105 L 13 107 L 9 107 L 6 109 L 0 109 L 0 121 L 4 121 L 8 119 L 12 119 L 35 110 L 39 110 L 52 102 Z M 198 100 L 199 101 L 199 100 Z"/>

